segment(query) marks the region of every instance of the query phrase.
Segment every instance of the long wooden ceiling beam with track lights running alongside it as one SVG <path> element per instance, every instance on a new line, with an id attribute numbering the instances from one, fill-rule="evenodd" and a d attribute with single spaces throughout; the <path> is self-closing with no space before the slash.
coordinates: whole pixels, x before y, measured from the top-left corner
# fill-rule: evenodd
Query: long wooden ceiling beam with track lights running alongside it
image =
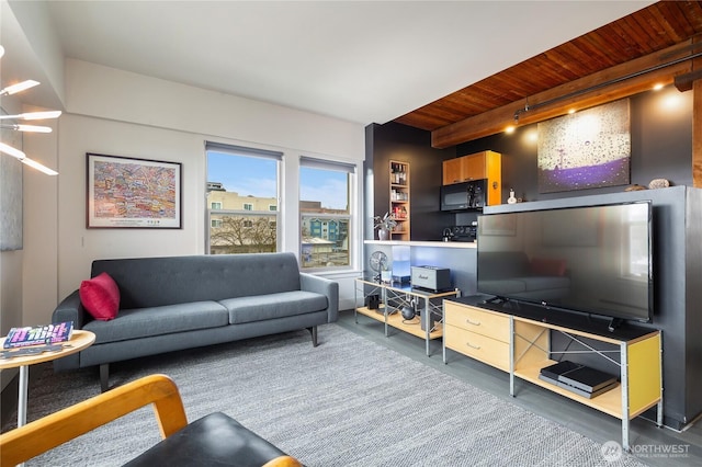
<path id="1" fill-rule="evenodd" d="M 514 125 L 516 113 L 519 113 L 519 125 L 526 125 L 565 115 L 574 109 L 580 111 L 627 98 L 647 91 L 656 83 L 670 84 L 676 76 L 692 71 L 692 60 L 684 59 L 693 55 L 691 45 L 692 41 L 684 41 L 654 54 L 530 95 L 528 99 L 434 129 L 431 132 L 431 146 L 443 149 L 502 133 L 508 126 Z M 681 59 L 684 61 L 677 62 Z M 695 81 L 698 82 L 699 80 Z M 536 109 L 524 111 L 526 105 Z M 702 164 L 702 159 L 700 163 Z M 700 176 L 702 178 L 702 173 Z"/>

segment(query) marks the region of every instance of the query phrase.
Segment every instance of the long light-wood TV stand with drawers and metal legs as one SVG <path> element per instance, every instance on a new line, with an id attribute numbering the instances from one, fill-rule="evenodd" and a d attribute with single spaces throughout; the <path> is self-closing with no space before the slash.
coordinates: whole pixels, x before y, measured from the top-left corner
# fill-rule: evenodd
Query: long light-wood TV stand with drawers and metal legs
<path id="1" fill-rule="evenodd" d="M 576 400 L 622 420 L 622 446 L 629 449 L 630 420 L 657 407 L 663 425 L 663 368 L 660 331 L 630 329 L 626 332 L 591 332 L 566 328 L 472 305 L 444 300 L 443 361 L 446 349 L 508 372 L 510 395 L 516 378 Z M 551 334 L 559 333 L 576 344 L 592 341 L 582 351 L 619 367 L 620 384 L 588 398 L 541 379 L 541 369 L 557 363 L 564 352 L 551 348 Z"/>

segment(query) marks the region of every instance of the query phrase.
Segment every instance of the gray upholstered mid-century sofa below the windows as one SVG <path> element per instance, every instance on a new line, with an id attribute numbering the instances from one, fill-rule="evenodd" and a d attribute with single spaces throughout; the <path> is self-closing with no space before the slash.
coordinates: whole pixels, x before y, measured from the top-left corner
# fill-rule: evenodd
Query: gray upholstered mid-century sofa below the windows
<path id="1" fill-rule="evenodd" d="M 106 272 L 120 288 L 115 319 L 95 320 L 79 291 L 54 310 L 52 321 L 73 321 L 95 333 L 88 349 L 54 362 L 65 371 L 129 358 L 308 329 L 337 320 L 339 285 L 301 273 L 292 253 L 97 260 L 91 277 Z"/>

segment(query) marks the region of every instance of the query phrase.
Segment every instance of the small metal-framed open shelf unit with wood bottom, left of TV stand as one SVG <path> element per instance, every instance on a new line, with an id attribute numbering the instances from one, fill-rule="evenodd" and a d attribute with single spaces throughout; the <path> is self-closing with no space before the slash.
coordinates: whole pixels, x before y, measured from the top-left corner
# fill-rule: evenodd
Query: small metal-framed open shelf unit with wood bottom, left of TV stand
<path id="1" fill-rule="evenodd" d="M 367 291 L 367 293 L 366 293 Z M 359 306 L 359 292 L 361 298 L 365 301 L 365 297 L 369 295 L 381 295 L 381 303 L 378 309 L 369 309 L 365 304 Z M 399 283 L 380 283 L 367 277 L 358 277 L 355 280 L 354 288 L 354 301 L 355 306 L 354 317 L 355 322 L 359 322 L 358 315 L 364 315 L 385 323 L 385 335 L 387 337 L 388 327 L 399 329 L 408 332 L 418 338 L 423 338 L 426 342 L 427 356 L 430 356 L 429 341 L 432 339 L 439 339 L 442 335 L 441 321 L 443 320 L 443 306 L 442 300 L 444 297 L 458 296 L 457 289 L 446 292 L 430 292 L 419 288 L 412 288 L 409 284 Z M 404 306 L 412 306 L 412 300 L 416 304 L 416 309 L 421 310 L 421 320 L 406 321 L 400 315 L 400 309 Z M 433 300 L 433 301 L 432 301 Z M 438 324 L 432 326 L 430 315 L 441 316 L 438 320 Z M 421 329 L 423 324 L 423 330 Z"/>

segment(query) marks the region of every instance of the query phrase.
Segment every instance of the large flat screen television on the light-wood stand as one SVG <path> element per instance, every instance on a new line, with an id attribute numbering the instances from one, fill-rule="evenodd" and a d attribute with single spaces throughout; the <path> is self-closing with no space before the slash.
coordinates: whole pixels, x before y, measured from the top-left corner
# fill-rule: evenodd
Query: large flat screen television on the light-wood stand
<path id="1" fill-rule="evenodd" d="M 554 312 L 653 319 L 652 203 L 478 217 L 477 291 Z M 551 311 L 550 311 L 551 312 Z"/>

